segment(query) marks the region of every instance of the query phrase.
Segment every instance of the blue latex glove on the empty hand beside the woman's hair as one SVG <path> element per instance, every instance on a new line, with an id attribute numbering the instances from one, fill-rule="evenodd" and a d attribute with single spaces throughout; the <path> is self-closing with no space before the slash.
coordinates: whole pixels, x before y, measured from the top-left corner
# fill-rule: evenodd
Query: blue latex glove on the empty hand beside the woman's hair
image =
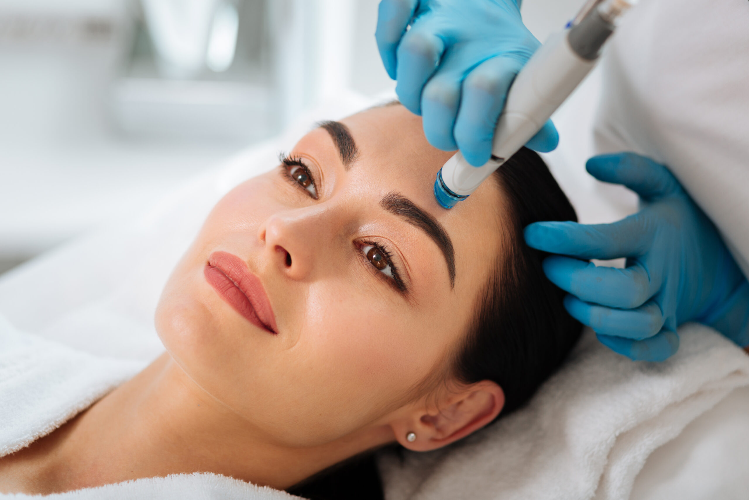
<path id="1" fill-rule="evenodd" d="M 533 223 L 530 247 L 550 256 L 548 278 L 565 307 L 598 339 L 635 360 L 661 361 L 679 347 L 676 327 L 696 321 L 749 344 L 749 283 L 712 222 L 666 169 L 637 154 L 593 157 L 588 172 L 640 195 L 641 210 L 612 224 Z M 627 257 L 625 269 L 578 259 Z"/>

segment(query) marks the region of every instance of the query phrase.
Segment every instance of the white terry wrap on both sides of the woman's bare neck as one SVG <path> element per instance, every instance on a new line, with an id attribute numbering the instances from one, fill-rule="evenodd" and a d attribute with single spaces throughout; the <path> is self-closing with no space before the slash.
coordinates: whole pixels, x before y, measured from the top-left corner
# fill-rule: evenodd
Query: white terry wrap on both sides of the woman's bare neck
<path id="1" fill-rule="evenodd" d="M 19 332 L 0 316 L 0 457 L 51 433 L 143 367 L 140 361 L 97 357 Z M 32 497 L 0 493 L 0 498 Z M 288 500 L 299 497 L 222 475 L 183 474 L 45 498 Z"/>

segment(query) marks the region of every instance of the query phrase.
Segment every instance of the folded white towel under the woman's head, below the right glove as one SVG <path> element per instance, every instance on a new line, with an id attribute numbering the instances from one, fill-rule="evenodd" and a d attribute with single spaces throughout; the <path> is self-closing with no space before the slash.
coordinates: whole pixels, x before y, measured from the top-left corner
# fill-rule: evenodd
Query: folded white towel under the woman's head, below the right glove
<path id="1" fill-rule="evenodd" d="M 379 457 L 387 500 L 628 499 L 655 448 L 749 385 L 749 356 L 703 325 L 679 352 L 633 362 L 592 331 L 524 409 L 428 454 Z"/>

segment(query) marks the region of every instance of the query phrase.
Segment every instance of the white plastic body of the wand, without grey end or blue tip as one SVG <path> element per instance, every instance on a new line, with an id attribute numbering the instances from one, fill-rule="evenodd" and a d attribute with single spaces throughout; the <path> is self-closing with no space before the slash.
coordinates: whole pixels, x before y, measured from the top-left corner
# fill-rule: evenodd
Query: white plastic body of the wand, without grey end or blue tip
<path id="1" fill-rule="evenodd" d="M 502 163 L 525 145 L 595 66 L 568 42 L 568 30 L 549 37 L 515 78 L 494 130 L 492 159 L 473 166 L 458 152 L 442 167 L 446 187 L 468 196 Z"/>

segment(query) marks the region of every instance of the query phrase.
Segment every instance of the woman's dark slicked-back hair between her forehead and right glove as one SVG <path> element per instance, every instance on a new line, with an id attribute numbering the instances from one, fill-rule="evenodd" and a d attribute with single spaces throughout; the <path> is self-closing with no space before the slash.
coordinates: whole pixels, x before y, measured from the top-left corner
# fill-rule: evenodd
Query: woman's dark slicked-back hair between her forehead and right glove
<path id="1" fill-rule="evenodd" d="M 548 255 L 525 244 L 523 229 L 539 220 L 577 220 L 546 163 L 527 148 L 494 172 L 506 200 L 503 250 L 479 298 L 473 328 L 455 361 L 460 382 L 497 382 L 505 393 L 501 415 L 518 409 L 562 364 L 582 325 L 562 305 L 565 293 L 549 281 Z"/>

